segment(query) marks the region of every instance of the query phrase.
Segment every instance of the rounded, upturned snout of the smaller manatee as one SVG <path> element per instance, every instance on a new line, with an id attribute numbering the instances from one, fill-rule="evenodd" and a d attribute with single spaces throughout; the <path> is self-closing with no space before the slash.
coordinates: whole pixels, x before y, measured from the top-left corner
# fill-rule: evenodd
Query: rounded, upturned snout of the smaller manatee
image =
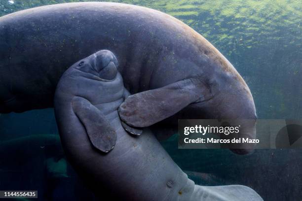
<path id="1" fill-rule="evenodd" d="M 94 54 L 93 68 L 99 74 L 102 81 L 113 81 L 117 75 L 117 60 L 113 53 L 101 50 Z"/>

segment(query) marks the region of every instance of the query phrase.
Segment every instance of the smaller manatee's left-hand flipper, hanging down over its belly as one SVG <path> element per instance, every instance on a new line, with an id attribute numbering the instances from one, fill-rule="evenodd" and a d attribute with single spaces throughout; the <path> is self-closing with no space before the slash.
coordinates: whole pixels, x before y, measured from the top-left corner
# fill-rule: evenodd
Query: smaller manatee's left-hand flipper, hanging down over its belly
<path id="1" fill-rule="evenodd" d="M 105 115 L 89 100 L 81 97 L 75 97 L 72 100 L 72 108 L 85 127 L 93 146 L 105 153 L 112 150 L 116 141 L 116 133 Z"/>

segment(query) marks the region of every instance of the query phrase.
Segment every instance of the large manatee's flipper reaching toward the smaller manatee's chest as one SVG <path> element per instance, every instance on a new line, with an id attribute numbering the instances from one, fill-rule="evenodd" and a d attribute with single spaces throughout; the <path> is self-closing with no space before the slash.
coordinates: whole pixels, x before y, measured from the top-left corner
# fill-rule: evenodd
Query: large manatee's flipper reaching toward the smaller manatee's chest
<path id="1" fill-rule="evenodd" d="M 127 125 L 142 128 L 174 115 L 190 103 L 211 98 L 211 90 L 205 82 L 188 78 L 131 95 L 119 106 L 118 113 Z"/>

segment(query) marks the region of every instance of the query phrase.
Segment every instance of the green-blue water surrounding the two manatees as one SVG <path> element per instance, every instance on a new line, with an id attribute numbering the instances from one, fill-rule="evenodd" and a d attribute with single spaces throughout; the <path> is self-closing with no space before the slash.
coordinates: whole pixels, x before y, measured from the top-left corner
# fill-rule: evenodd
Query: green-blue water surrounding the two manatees
<path id="1" fill-rule="evenodd" d="M 0 0 L 0 16 L 74 0 Z M 168 13 L 209 40 L 251 89 L 259 119 L 302 119 L 299 0 L 115 0 Z M 265 201 L 302 200 L 302 150 L 180 150 L 162 142 L 196 184 L 241 184 Z M 0 190 L 38 190 L 39 200 L 93 200 L 65 160 L 53 109 L 0 115 Z M 68 192 L 68 193 L 66 193 Z"/>

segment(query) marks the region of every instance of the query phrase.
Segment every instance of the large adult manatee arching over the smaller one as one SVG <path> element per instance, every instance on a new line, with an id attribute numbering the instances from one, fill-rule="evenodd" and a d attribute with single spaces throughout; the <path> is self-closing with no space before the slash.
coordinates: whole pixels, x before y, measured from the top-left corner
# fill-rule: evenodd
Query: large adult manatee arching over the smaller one
<path id="1" fill-rule="evenodd" d="M 174 119 L 256 118 L 250 90 L 227 59 L 187 25 L 153 9 L 108 2 L 47 5 L 0 17 L 0 38 L 1 113 L 52 107 L 63 72 L 109 49 L 131 94 L 159 89 L 149 92 L 171 105 L 154 116 L 159 119 L 143 125 L 125 116 L 126 123 L 147 126 L 177 111 Z M 165 90 L 163 96 L 160 88 L 191 77 L 201 80 L 195 93 L 175 97 L 177 90 Z"/>

